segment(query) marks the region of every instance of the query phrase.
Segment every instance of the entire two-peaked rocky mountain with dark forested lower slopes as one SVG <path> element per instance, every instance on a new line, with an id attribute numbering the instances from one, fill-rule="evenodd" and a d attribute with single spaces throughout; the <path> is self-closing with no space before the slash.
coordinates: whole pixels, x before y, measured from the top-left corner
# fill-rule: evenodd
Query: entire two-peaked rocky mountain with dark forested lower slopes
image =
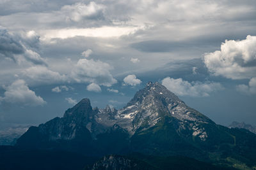
<path id="1" fill-rule="evenodd" d="M 215 124 L 158 82 L 148 82 L 120 110 L 92 108 L 90 100 L 83 99 L 63 117 L 30 127 L 15 146 L 97 157 L 180 155 L 239 169 L 250 169 L 256 162 L 255 134 Z"/>

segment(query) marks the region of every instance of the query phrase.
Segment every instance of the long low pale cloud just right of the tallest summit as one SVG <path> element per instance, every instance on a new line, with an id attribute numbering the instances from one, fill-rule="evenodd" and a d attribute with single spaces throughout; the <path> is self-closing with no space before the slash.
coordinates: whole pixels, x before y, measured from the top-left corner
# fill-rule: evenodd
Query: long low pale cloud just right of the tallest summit
<path id="1" fill-rule="evenodd" d="M 182 80 L 182 78 L 170 78 L 166 77 L 162 80 L 162 85 L 164 85 L 168 90 L 177 94 L 178 96 L 209 96 L 211 92 L 221 90 L 223 87 L 220 83 L 212 82 L 191 82 Z"/>

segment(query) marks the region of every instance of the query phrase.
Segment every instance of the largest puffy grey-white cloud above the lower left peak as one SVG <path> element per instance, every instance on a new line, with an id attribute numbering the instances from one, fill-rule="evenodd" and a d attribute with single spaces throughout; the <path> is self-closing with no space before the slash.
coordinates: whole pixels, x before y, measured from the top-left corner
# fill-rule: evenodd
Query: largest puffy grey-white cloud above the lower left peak
<path id="1" fill-rule="evenodd" d="M 108 63 L 93 59 L 79 59 L 71 76 L 77 82 L 97 83 L 110 87 L 117 81 L 109 72 L 113 67 Z"/>

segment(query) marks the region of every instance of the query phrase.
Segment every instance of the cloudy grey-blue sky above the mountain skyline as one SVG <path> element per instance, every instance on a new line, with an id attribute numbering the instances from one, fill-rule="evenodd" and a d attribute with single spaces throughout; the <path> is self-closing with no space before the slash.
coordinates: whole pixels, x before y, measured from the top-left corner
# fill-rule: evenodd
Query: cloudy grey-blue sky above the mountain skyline
<path id="1" fill-rule="evenodd" d="M 217 124 L 256 125 L 254 0 L 0 0 L 0 129 L 159 81 Z"/>

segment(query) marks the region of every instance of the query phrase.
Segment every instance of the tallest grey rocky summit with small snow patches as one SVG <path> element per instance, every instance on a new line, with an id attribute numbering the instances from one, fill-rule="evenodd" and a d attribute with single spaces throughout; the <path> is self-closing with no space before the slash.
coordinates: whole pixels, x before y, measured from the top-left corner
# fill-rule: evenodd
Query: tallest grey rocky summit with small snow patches
<path id="1" fill-rule="evenodd" d="M 122 113 L 123 117 L 130 118 L 131 122 L 140 122 L 133 127 L 132 131 L 136 131 L 141 124 L 145 124 L 145 120 L 148 122 L 148 127 L 152 127 L 166 116 L 175 117 L 181 121 L 213 123 L 198 111 L 189 108 L 179 97 L 159 82 L 148 82 L 143 89 L 136 92 L 127 106 L 119 113 Z"/>

